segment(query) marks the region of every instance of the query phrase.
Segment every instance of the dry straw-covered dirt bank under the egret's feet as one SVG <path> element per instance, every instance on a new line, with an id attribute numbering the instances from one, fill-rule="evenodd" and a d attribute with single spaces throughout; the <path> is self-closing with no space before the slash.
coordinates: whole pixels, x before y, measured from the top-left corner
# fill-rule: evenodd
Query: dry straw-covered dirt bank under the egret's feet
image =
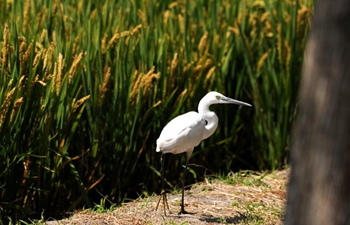
<path id="1" fill-rule="evenodd" d="M 273 173 L 243 171 L 225 179 L 210 179 L 185 192 L 185 209 L 178 215 L 181 193 L 168 193 L 171 212 L 164 215 L 159 196 L 149 196 L 99 213 L 82 211 L 46 224 L 282 224 L 289 170 Z"/>

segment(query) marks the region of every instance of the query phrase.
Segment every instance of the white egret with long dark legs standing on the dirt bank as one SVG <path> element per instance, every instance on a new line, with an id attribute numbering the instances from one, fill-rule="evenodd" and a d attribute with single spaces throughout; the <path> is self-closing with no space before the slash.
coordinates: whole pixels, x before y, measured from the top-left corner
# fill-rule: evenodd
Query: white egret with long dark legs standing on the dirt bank
<path id="1" fill-rule="evenodd" d="M 209 106 L 212 104 L 236 104 L 251 106 L 248 103 L 234 100 L 218 92 L 212 91 L 206 94 L 199 102 L 198 113 L 192 111 L 177 116 L 163 128 L 157 140 L 156 149 L 157 152 L 162 153 L 162 192 L 156 210 L 158 209 L 161 198 L 163 198 L 163 207 L 165 215 L 165 205 L 167 206 L 168 210 L 170 210 L 166 199 L 166 192 L 164 190 L 165 153 L 180 154 L 186 152 L 187 154 L 186 166 L 182 182 L 182 199 L 180 214 L 187 213 L 184 208 L 184 186 L 188 161 L 192 155 L 194 147 L 199 145 L 199 143 L 202 140 L 210 137 L 216 130 L 219 122 L 219 118 L 217 117 L 217 115 L 209 109 Z"/>

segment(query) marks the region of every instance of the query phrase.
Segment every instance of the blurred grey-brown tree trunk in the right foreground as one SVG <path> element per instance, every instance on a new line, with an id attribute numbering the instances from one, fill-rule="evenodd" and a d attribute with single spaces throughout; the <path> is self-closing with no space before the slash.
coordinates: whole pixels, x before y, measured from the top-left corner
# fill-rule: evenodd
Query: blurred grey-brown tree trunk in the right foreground
<path id="1" fill-rule="evenodd" d="M 285 224 L 350 224 L 350 2 L 315 1 Z"/>

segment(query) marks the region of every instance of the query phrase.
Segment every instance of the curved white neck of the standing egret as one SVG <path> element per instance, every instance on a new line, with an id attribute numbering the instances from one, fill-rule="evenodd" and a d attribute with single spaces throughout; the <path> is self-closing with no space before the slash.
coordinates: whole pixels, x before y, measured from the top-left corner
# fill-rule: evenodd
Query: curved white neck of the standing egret
<path id="1" fill-rule="evenodd" d="M 205 119 L 208 123 L 205 126 L 205 131 L 203 134 L 203 139 L 210 137 L 218 127 L 219 118 L 213 111 L 209 110 L 209 105 L 204 103 L 204 101 L 200 101 L 198 105 L 198 113 L 199 115 Z"/>

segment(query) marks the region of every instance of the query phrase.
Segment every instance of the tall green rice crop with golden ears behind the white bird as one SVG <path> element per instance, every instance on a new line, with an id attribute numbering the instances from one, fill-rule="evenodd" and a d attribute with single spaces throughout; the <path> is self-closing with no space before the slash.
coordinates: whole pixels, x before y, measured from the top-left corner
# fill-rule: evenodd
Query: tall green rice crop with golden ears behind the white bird
<path id="1" fill-rule="evenodd" d="M 210 171 L 283 166 L 312 7 L 0 1 L 0 219 L 158 190 L 155 140 L 209 90 L 253 108 L 213 106 L 219 128 L 191 162 Z M 169 183 L 180 182 L 182 163 L 169 157 Z"/>

